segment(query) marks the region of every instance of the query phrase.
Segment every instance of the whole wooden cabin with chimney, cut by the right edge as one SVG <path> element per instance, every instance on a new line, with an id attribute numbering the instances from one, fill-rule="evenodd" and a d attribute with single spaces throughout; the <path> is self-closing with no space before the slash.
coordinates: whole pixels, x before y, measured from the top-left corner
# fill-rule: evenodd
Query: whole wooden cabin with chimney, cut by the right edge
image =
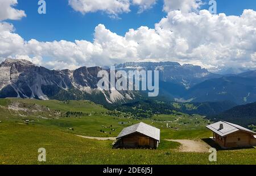
<path id="1" fill-rule="evenodd" d="M 240 125 L 218 121 L 207 126 L 213 132 L 213 140 L 221 148 L 256 146 L 256 132 Z"/>

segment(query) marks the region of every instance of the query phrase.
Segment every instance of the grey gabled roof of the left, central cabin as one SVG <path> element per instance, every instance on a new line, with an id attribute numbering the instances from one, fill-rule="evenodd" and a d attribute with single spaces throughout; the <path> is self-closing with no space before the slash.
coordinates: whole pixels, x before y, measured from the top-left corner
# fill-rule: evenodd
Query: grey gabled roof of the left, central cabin
<path id="1" fill-rule="evenodd" d="M 152 127 L 151 125 L 148 125 L 146 123 L 138 123 L 135 125 L 131 125 L 130 127 L 123 128 L 121 133 L 117 136 L 117 139 L 130 135 L 132 133 L 139 132 L 143 135 L 146 135 L 148 137 L 151 137 L 152 139 L 160 141 L 160 129 Z"/>

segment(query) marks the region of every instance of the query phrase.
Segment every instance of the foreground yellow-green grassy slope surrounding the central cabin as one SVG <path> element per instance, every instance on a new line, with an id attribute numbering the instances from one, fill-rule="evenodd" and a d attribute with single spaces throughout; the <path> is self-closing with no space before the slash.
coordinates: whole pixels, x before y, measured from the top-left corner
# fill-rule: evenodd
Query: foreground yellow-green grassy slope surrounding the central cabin
<path id="1" fill-rule="evenodd" d="M 38 148 L 44 147 L 43 164 L 212 164 L 208 153 L 181 153 L 176 143 L 157 150 L 112 149 L 112 141 L 83 139 L 57 129 L 2 123 L 0 164 L 42 164 Z M 216 164 L 255 164 L 255 149 L 219 151 Z"/>

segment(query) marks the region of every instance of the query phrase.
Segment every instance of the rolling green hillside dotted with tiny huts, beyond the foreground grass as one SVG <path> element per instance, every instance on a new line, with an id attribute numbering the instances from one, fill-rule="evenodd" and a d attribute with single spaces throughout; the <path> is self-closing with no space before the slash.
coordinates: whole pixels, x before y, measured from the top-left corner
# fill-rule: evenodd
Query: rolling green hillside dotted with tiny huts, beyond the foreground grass
<path id="1" fill-rule="evenodd" d="M 179 136 L 175 134 L 179 134 L 181 129 L 190 131 L 202 129 L 202 131 L 208 132 L 205 128 L 208 120 L 200 115 L 159 114 L 152 118 L 137 119 L 125 112 L 106 110 L 101 105 L 88 100 L 0 99 L 0 103 L 5 104 L 0 107 L 2 114 L 0 120 L 2 121 L 46 126 L 84 136 L 115 137 L 123 128 L 139 123 L 139 121 L 161 128 L 163 134 L 171 131 L 172 133 L 168 133 L 167 136 L 164 135 L 171 138 Z M 172 125 L 171 121 L 174 121 Z M 69 130 L 69 128 L 73 128 L 73 130 Z M 199 136 L 191 136 L 191 138 L 193 137 Z"/>

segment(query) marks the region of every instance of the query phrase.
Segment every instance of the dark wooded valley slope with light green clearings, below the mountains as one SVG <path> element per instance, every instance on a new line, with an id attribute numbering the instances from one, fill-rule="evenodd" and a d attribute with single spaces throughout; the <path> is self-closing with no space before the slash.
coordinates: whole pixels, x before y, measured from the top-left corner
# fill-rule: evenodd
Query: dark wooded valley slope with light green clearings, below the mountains
<path id="1" fill-rule="evenodd" d="M 150 118 L 155 114 L 175 114 L 179 112 L 190 115 L 215 115 L 234 106 L 236 104 L 232 102 L 177 103 L 159 100 L 139 100 L 133 103 L 125 103 L 115 108 L 118 111 L 131 112 L 138 117 Z"/>

